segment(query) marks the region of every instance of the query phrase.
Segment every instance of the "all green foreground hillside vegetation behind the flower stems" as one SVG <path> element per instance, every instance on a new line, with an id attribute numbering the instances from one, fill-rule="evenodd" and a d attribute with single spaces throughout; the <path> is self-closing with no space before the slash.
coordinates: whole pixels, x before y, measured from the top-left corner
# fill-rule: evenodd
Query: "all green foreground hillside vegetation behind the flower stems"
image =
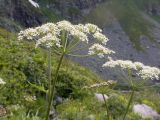
<path id="1" fill-rule="evenodd" d="M 2 120 L 43 120 L 46 111 L 47 51 L 37 48 L 32 42 L 18 41 L 16 35 L 0 29 L 0 78 L 6 84 L 0 86 L 0 105 L 6 113 Z M 59 56 L 52 54 L 52 78 Z M 95 98 L 95 93 L 109 96 L 107 105 L 112 120 L 121 120 L 126 109 L 129 93 L 122 93 L 124 87 L 105 86 L 85 89 L 102 80 L 93 72 L 65 58 L 62 63 L 56 95 L 63 102 L 56 106 L 61 120 L 106 120 L 105 104 Z M 36 86 L 36 87 L 35 87 Z M 37 89 L 38 88 L 38 89 Z M 117 90 L 118 88 L 118 90 Z M 129 88 L 127 88 L 129 90 Z M 135 103 L 144 103 L 160 112 L 160 87 L 148 87 L 135 91 Z M 1 109 L 0 106 L 0 109 Z M 1 115 L 1 112 L 0 112 Z M 117 119 L 118 118 L 118 119 Z M 130 107 L 126 120 L 142 120 Z"/>

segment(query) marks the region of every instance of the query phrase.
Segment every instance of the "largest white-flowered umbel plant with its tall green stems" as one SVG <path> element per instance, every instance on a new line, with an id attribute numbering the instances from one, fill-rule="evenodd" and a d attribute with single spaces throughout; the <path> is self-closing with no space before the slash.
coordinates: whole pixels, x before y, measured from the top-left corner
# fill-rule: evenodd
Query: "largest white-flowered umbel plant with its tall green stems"
<path id="1" fill-rule="evenodd" d="M 94 39 L 90 42 L 89 38 Z M 102 30 L 93 24 L 73 25 L 68 21 L 57 23 L 47 23 L 39 27 L 29 28 L 21 31 L 18 35 L 19 40 L 33 40 L 35 47 L 43 47 L 48 50 L 48 108 L 46 120 L 49 119 L 49 113 L 52 108 L 52 101 L 55 93 L 55 85 L 58 80 L 58 73 L 62 60 L 65 55 L 74 57 L 89 57 L 98 55 L 100 58 L 104 55 L 114 53 L 114 51 L 104 47 L 108 38 L 103 35 Z M 81 48 L 77 47 L 81 45 Z M 74 51 L 88 49 L 88 54 L 77 55 Z M 58 66 L 55 71 L 54 79 L 51 79 L 51 52 L 60 56 Z"/>

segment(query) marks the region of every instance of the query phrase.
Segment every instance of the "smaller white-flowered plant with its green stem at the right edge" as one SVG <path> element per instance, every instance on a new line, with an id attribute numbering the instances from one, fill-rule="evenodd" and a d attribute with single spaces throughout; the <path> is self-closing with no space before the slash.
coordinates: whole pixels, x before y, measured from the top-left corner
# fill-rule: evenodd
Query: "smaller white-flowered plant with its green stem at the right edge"
<path id="1" fill-rule="evenodd" d="M 107 61 L 102 67 L 112 68 L 121 73 L 125 74 L 127 81 L 131 86 L 131 95 L 128 101 L 126 111 L 123 116 L 123 120 L 126 119 L 126 115 L 129 111 L 129 107 L 134 97 L 134 92 L 137 88 L 143 87 L 147 80 L 159 80 L 160 79 L 160 69 L 156 67 L 150 67 L 144 65 L 141 62 L 132 62 L 130 60 L 112 60 Z M 124 75 L 123 74 L 123 75 Z"/>

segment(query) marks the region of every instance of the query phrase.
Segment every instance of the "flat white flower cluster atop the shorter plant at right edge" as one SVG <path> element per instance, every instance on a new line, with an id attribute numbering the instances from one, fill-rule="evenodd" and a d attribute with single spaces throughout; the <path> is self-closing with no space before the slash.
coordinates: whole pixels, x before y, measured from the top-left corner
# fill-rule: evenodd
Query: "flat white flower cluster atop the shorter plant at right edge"
<path id="1" fill-rule="evenodd" d="M 142 79 L 159 79 L 160 69 L 156 67 L 146 66 L 140 62 L 132 62 L 129 60 L 110 60 L 106 62 L 103 67 L 120 67 L 121 69 L 130 69 L 136 71 L 136 75 L 141 77 Z"/>

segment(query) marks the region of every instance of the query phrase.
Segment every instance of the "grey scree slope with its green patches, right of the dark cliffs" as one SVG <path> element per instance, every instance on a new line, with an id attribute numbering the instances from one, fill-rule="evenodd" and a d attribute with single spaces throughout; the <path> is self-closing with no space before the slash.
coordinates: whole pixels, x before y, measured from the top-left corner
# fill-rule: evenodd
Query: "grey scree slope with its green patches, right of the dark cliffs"
<path id="1" fill-rule="evenodd" d="M 146 12 L 148 8 L 144 7 L 145 4 L 152 4 L 151 1 L 141 2 L 142 5 L 136 0 L 106 1 L 91 11 L 84 21 L 98 24 L 103 28 L 110 39 L 107 47 L 116 52 L 112 55 L 113 59 L 129 59 L 160 67 L 159 22 L 154 19 L 155 15 Z M 107 58 L 103 61 L 98 58 L 76 61 L 88 66 L 105 79 L 118 79 L 111 70 L 101 67 Z M 86 64 L 88 62 L 89 64 Z"/>

